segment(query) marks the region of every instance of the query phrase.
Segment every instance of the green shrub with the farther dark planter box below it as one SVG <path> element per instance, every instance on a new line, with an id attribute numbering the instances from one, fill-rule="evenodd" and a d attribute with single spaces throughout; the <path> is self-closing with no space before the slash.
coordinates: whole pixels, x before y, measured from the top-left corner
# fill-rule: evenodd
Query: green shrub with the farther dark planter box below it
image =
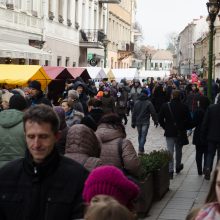
<path id="1" fill-rule="evenodd" d="M 144 175 L 152 173 L 154 186 L 154 199 L 159 200 L 169 190 L 169 151 L 152 151 L 140 157 Z"/>

